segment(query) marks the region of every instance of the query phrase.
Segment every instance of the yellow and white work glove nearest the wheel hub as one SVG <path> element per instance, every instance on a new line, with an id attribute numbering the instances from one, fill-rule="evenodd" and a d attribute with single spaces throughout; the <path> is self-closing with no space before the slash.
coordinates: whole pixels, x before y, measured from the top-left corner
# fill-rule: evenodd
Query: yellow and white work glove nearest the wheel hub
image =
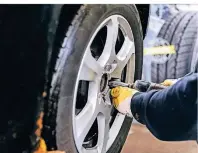
<path id="1" fill-rule="evenodd" d="M 127 87 L 115 87 L 111 90 L 114 107 L 122 114 L 132 117 L 131 99 L 138 91 Z"/>

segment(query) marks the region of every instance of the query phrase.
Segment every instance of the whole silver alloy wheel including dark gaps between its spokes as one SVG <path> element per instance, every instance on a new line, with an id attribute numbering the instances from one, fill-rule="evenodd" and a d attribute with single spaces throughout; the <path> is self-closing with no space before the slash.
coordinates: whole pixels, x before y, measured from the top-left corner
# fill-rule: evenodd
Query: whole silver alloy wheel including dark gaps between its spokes
<path id="1" fill-rule="evenodd" d="M 106 29 L 106 40 L 101 39 L 103 47 L 98 45 L 96 55 L 93 42 L 103 29 Z M 120 32 L 123 42 L 116 50 Z M 72 117 L 75 144 L 80 153 L 106 152 L 113 144 L 125 116 L 111 105 L 108 81 L 122 79 L 124 73 L 124 81 L 132 83 L 134 68 L 135 45 L 131 27 L 123 16 L 109 16 L 93 33 L 76 81 Z"/>

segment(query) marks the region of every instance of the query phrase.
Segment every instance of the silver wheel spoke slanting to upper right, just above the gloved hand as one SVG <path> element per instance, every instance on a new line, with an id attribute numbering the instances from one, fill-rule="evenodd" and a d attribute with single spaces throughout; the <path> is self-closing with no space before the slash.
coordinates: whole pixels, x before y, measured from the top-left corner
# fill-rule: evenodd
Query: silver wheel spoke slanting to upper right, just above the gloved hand
<path id="1" fill-rule="evenodd" d="M 112 77 L 120 78 L 122 70 L 128 63 L 129 59 L 135 55 L 135 45 L 132 40 L 128 37 L 125 37 L 125 41 L 122 45 L 122 48 L 117 54 L 117 67 L 111 74 Z"/>

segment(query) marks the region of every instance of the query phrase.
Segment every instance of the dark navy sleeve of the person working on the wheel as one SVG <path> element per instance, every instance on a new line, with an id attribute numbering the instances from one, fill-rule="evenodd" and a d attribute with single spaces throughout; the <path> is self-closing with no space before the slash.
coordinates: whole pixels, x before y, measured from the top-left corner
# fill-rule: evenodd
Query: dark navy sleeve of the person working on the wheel
<path id="1" fill-rule="evenodd" d="M 133 116 L 160 140 L 197 140 L 197 79 L 195 73 L 164 90 L 135 94 Z"/>

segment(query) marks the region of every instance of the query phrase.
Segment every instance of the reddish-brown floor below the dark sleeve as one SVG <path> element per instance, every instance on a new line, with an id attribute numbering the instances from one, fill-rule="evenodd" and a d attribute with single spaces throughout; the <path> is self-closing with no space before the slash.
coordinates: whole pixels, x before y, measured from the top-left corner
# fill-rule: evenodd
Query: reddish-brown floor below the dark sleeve
<path id="1" fill-rule="evenodd" d="M 198 153 L 198 145 L 159 141 L 143 125 L 133 124 L 122 153 Z"/>

